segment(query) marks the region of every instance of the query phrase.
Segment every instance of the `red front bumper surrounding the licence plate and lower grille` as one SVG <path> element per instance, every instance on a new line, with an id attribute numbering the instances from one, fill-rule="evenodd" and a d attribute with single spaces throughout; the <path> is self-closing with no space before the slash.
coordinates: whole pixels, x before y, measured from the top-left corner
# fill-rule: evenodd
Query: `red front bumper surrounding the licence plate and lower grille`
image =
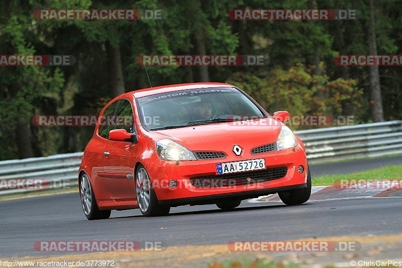
<path id="1" fill-rule="evenodd" d="M 250 182 L 250 184 L 207 184 L 206 187 L 196 187 L 191 181 L 194 177 L 217 175 L 216 164 L 239 160 L 264 158 L 266 169 L 286 167 L 287 171 L 281 178 L 265 182 Z M 299 173 L 297 167 L 302 165 L 304 171 Z M 248 199 L 262 195 L 274 194 L 280 191 L 307 187 L 307 158 L 300 145 L 282 151 L 273 151 L 243 157 L 228 156 L 224 159 L 205 159 L 193 161 L 164 161 L 159 158 L 146 166 L 152 181 L 155 194 L 161 204 L 213 204 L 222 199 Z M 241 173 L 241 172 L 239 172 Z M 170 189 L 168 183 L 177 181 L 177 187 Z M 192 183 L 191 183 L 192 182 Z"/>

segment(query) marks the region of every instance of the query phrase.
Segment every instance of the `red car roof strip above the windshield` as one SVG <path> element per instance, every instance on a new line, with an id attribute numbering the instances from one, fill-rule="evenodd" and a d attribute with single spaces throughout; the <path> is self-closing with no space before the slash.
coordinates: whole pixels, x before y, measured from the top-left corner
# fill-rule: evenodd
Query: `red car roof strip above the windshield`
<path id="1" fill-rule="evenodd" d="M 234 85 L 218 82 L 201 82 L 201 83 L 184 83 L 184 84 L 169 84 L 144 88 L 143 90 L 137 90 L 129 92 L 133 94 L 135 98 L 141 98 L 160 93 L 168 93 L 182 90 L 195 90 L 196 88 L 208 88 L 208 87 L 235 87 Z"/>

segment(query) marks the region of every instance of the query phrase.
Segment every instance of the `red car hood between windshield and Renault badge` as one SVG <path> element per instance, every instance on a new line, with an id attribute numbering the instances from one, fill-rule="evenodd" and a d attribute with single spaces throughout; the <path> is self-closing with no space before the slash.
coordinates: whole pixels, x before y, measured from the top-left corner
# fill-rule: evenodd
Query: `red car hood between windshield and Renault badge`
<path id="1" fill-rule="evenodd" d="M 227 143 L 260 145 L 276 142 L 279 132 L 280 123 L 273 118 L 152 131 L 161 138 L 176 141 L 190 150 L 219 150 L 217 146 Z"/>

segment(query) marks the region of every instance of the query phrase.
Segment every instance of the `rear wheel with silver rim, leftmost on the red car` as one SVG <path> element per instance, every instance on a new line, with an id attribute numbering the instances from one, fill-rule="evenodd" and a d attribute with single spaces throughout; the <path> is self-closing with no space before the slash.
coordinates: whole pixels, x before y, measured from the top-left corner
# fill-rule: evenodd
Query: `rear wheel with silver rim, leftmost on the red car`
<path id="1" fill-rule="evenodd" d="M 82 173 L 79 177 L 79 194 L 82 209 L 88 220 L 108 219 L 110 217 L 111 210 L 99 210 L 97 207 L 95 194 L 85 173 Z"/>

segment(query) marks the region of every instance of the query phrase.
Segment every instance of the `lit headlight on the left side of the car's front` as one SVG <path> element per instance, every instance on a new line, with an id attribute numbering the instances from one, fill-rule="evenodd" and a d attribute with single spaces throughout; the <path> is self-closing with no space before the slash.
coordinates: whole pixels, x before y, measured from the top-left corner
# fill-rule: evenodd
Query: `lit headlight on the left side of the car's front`
<path id="1" fill-rule="evenodd" d="M 156 151 L 163 160 L 196 160 L 190 150 L 169 139 L 157 141 Z"/>

